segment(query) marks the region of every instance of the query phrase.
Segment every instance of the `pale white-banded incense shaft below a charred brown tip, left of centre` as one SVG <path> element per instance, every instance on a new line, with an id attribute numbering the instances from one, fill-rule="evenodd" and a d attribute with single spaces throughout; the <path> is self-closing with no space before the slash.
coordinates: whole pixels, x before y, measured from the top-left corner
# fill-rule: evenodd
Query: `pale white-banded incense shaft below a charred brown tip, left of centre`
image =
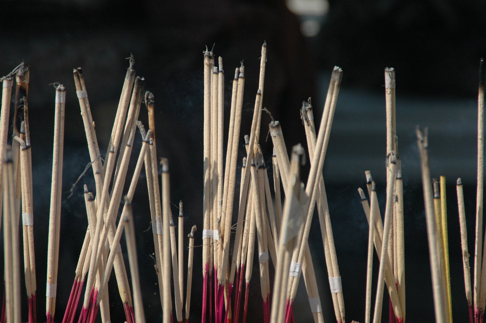
<path id="1" fill-rule="evenodd" d="M 150 147 L 153 146 L 152 139 L 150 139 Z M 157 218 L 156 214 L 156 201 L 154 192 L 154 180 L 152 177 L 152 161 L 150 158 L 150 148 L 145 153 L 145 177 L 147 178 L 147 189 L 149 193 L 149 204 L 150 204 L 150 218 L 152 221 L 152 233 L 154 236 L 154 253 L 155 253 L 155 266 L 158 281 L 158 291 L 160 296 L 160 305 L 163 306 L 163 282 L 162 282 L 162 220 Z M 158 189 L 157 189 L 158 191 Z"/>

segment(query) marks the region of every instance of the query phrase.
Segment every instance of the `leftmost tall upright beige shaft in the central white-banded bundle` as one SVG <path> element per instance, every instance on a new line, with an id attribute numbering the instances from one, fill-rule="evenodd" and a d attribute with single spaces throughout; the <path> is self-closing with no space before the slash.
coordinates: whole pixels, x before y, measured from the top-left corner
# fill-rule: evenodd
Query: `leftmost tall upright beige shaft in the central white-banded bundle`
<path id="1" fill-rule="evenodd" d="M 210 216 L 211 216 L 211 65 L 210 61 L 213 58 L 212 51 L 204 52 L 204 152 L 203 152 L 203 168 L 204 168 L 204 186 L 203 186 L 203 278 L 207 278 L 208 262 L 209 262 L 209 237 L 206 237 L 205 232 L 210 230 Z M 164 302 L 165 304 L 165 302 Z M 203 313 L 204 315 L 204 313 Z M 169 318 L 168 318 L 169 319 Z M 165 321 L 164 321 L 165 322 Z"/>

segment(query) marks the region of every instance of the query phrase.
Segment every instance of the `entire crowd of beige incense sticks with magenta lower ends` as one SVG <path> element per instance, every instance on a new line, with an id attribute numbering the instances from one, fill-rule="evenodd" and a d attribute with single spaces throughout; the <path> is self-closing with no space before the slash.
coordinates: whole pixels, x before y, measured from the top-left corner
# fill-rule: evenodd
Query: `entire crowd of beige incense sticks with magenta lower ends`
<path id="1" fill-rule="evenodd" d="M 246 322 L 253 259 L 257 259 L 260 275 L 260 293 L 265 323 L 295 322 L 294 301 L 303 274 L 309 309 L 314 322 L 322 323 L 323 306 L 319 295 L 316 272 L 312 264 L 308 239 L 314 208 L 317 205 L 319 229 L 329 278 L 329 287 L 338 323 L 346 322 L 343 289 L 334 243 L 330 208 L 322 169 L 329 146 L 330 133 L 343 71 L 332 70 L 329 89 L 324 104 L 319 128 L 316 130 L 311 99 L 304 101 L 300 118 L 304 125 L 309 158 L 300 144 L 292 148 L 289 158 L 279 121 L 269 124 L 272 138 L 272 179 L 264 160 L 267 152 L 260 147 L 260 125 L 263 108 L 263 89 L 267 59 L 267 45 L 263 43 L 260 57 L 259 87 L 256 91 L 254 110 L 249 135 L 244 136 L 243 163 L 241 164 L 240 194 L 235 197 L 238 185 L 237 167 L 243 108 L 244 66 L 235 69 L 231 81 L 229 106 L 229 131 L 224 154 L 225 80 L 223 59 L 215 66 L 214 53 L 204 52 L 204 194 L 203 194 L 203 295 L 202 322 Z M 95 123 L 88 101 L 87 85 L 81 68 L 73 70 L 76 95 L 87 137 L 89 163 L 86 170 L 93 170 L 95 187 L 84 185 L 84 207 L 86 208 L 86 234 L 77 262 L 74 282 L 65 309 L 63 323 L 111 322 L 108 281 L 115 271 L 121 304 L 126 322 L 145 322 L 136 249 L 136 231 L 132 200 L 139 182 L 142 167 L 145 168 L 152 222 L 157 284 L 162 309 L 162 320 L 170 323 L 189 322 L 191 306 L 191 284 L 193 274 L 194 239 L 196 227 L 188 236 L 188 274 L 184 288 L 184 212 L 179 203 L 178 219 L 174 221 L 171 209 L 169 161 L 160 162 L 161 178 L 158 179 L 159 164 L 155 136 L 155 96 L 144 93 L 144 79 L 136 77 L 135 60 L 129 58 L 129 67 L 123 81 L 120 102 L 108 139 L 108 149 L 103 159 L 95 131 Z M 16 77 L 14 114 L 10 118 L 13 77 Z M 364 322 L 378 323 L 382 320 L 383 289 L 389 295 L 389 322 L 405 321 L 405 272 L 404 272 L 404 210 L 401 163 L 398 150 L 395 70 L 385 69 L 386 108 L 386 204 L 382 219 L 377 183 L 369 171 L 365 172 L 369 201 L 364 190 L 359 194 L 365 216 L 369 223 Z M 28 84 L 29 68 L 23 64 L 1 78 L 2 103 L 0 111 L 0 203 L 3 206 L 3 237 L 5 262 L 5 289 L 0 322 L 20 322 L 20 247 L 18 245 L 18 222 L 22 211 L 23 260 L 25 286 L 28 299 L 29 323 L 36 322 L 35 301 L 35 255 L 33 236 L 33 179 L 31 134 L 29 127 Z M 482 200 L 483 200 L 483 139 L 484 139 L 484 70 L 480 64 L 480 87 L 478 99 L 478 190 L 477 221 L 474 262 L 474 294 L 471 288 L 469 253 L 467 246 L 466 217 L 462 181 L 457 180 L 457 202 L 463 250 L 463 267 L 466 297 L 470 322 L 483 320 L 486 303 L 486 256 L 482 249 Z M 61 230 L 62 170 L 64 146 L 64 115 L 66 109 L 66 87 L 54 84 L 54 136 L 51 183 L 51 205 L 49 218 L 46 315 L 47 322 L 55 322 L 55 304 L 58 277 L 59 241 Z M 148 111 L 149 129 L 139 121 L 142 102 Z M 297 114 L 295 114 L 297 117 Z M 9 127 L 12 119 L 12 127 Z M 12 129 L 12 145 L 9 145 L 9 129 Z M 140 133 L 140 136 L 137 135 Z M 141 148 L 128 190 L 124 191 L 128 166 L 136 137 L 141 137 Z M 420 153 L 425 215 L 433 279 L 433 294 L 436 322 L 452 322 L 451 275 L 449 269 L 449 246 L 446 204 L 446 179 L 431 179 L 429 168 L 427 131 L 417 128 L 417 145 Z M 226 158 L 226 159 L 225 159 Z M 311 164 L 304 185 L 300 167 L 305 160 Z M 86 171 L 85 170 L 85 171 Z M 83 173 L 84 175 L 84 173 Z M 81 177 L 80 177 L 81 178 Z M 71 192 L 75 187 L 71 188 Z M 281 196 L 283 188 L 284 198 Z M 120 204 L 124 205 L 119 212 Z M 235 205 L 237 198 L 237 205 Z M 233 211 L 237 209 L 237 216 Z M 118 215 L 119 221 L 117 221 Z M 236 213 L 236 212 L 235 212 Z M 235 218 L 235 219 L 234 219 Z M 236 220 L 236 221 L 235 221 Z M 147 219 L 148 221 L 148 219 Z M 178 226 L 176 230 L 175 226 Z M 232 250 L 232 228 L 235 235 Z M 128 260 L 123 259 L 121 236 L 125 235 Z M 372 316 L 372 263 L 373 245 L 380 261 L 377 292 Z M 271 264 L 270 264 L 271 261 Z M 128 280 L 126 264 L 130 266 L 131 282 Z M 274 274 L 273 291 L 270 277 Z M 243 293 L 244 277 L 244 297 Z M 174 289 L 173 289 L 174 286 Z M 186 289 L 186 297 L 184 297 Z M 234 294 L 233 294 L 234 291 Z M 133 292 L 133 294 L 132 294 Z M 83 295 L 83 298 L 81 295 Z M 474 299 L 472 297 L 474 295 Z M 112 295 L 113 296 L 113 295 Z M 185 311 L 184 299 L 186 299 Z M 80 300 L 82 300 L 81 308 Z M 111 302 L 117 302 L 111 298 Z M 242 304 L 243 302 L 243 304 Z M 173 305 L 175 313 L 173 313 Z M 473 311 L 474 306 L 474 311 Z M 241 309 L 243 307 L 243 313 Z M 353 321 L 354 322 L 354 321 Z"/>

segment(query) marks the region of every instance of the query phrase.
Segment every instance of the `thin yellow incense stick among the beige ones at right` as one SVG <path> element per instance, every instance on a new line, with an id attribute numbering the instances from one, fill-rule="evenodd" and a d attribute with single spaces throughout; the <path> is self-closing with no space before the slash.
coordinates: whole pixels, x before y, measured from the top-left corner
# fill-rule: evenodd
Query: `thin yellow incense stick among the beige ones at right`
<path id="1" fill-rule="evenodd" d="M 446 296 L 449 311 L 449 322 L 452 323 L 452 298 L 451 298 L 451 270 L 449 267 L 449 234 L 447 230 L 447 202 L 446 202 L 446 177 L 440 176 L 440 210 L 442 223 L 442 253 L 444 257 L 446 280 Z"/>

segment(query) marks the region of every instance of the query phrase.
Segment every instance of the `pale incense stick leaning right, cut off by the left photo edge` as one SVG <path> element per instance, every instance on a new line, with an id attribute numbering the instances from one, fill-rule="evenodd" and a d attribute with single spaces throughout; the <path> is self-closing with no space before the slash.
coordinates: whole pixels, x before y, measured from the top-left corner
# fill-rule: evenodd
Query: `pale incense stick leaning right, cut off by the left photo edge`
<path id="1" fill-rule="evenodd" d="M 10 116 L 10 101 L 12 98 L 13 80 L 11 77 L 4 78 L 2 81 L 1 111 L 0 111 L 0 161 L 3 163 L 5 148 L 7 147 L 8 120 Z M 0 167 L 0 192 L 3 192 L 2 181 L 3 168 Z M 0 210 L 3 195 L 0 194 Z M 1 225 L 1 221 L 0 221 Z"/>

